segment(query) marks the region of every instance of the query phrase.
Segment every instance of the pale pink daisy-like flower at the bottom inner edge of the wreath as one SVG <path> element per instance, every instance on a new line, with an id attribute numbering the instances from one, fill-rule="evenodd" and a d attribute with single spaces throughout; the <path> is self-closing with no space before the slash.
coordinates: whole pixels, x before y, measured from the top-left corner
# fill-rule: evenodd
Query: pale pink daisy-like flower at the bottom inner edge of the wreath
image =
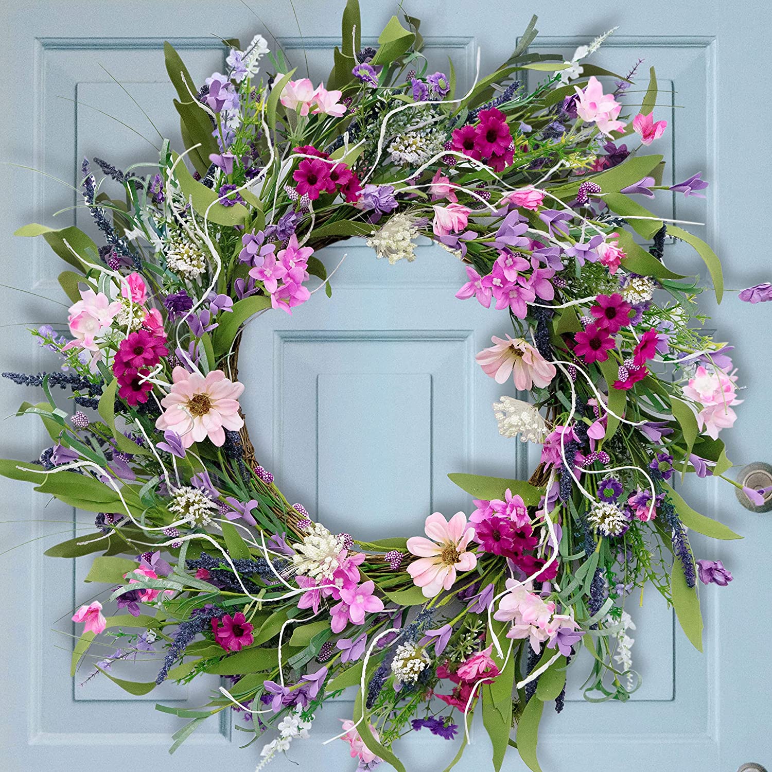
<path id="1" fill-rule="evenodd" d="M 419 557 L 408 566 L 408 574 L 425 598 L 434 598 L 453 586 L 456 571 L 472 571 L 477 565 L 476 555 L 466 550 L 475 532 L 464 513 L 457 512 L 448 521 L 435 512 L 426 518 L 425 533 L 428 539 L 408 539 L 408 551 Z"/>

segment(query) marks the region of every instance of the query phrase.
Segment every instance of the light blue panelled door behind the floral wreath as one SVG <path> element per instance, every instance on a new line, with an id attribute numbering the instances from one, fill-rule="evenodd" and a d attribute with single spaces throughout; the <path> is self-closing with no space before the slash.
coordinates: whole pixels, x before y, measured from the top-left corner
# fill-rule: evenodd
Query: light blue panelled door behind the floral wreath
<path id="1" fill-rule="evenodd" d="M 164 72 L 162 45 L 181 51 L 201 82 L 222 67 L 222 49 L 210 32 L 249 39 L 277 36 L 286 56 L 317 80 L 326 76 L 340 35 L 342 0 L 296 4 L 299 32 L 289 2 L 253 2 L 260 20 L 239 3 L 94 4 L 36 2 L 5 8 L 0 56 L 5 73 L 5 141 L 2 160 L 35 167 L 46 175 L 5 167 L 0 188 L 3 283 L 59 300 L 56 273 L 32 239 L 12 239 L 27 222 L 49 222 L 61 210 L 59 227 L 87 228 L 75 208 L 80 159 L 103 157 L 125 168 L 153 161 L 160 134 L 179 144 L 171 107 L 173 90 Z M 374 41 L 389 4 L 363 2 L 363 42 Z M 761 51 L 772 33 L 767 13 L 752 2 L 727 8 L 717 2 L 684 0 L 677 5 L 611 0 L 603 7 L 505 2 L 414 0 L 411 15 L 423 19 L 426 54 L 438 69 L 452 56 L 459 87 L 475 76 L 476 51 L 482 72 L 506 59 L 531 12 L 540 13 L 535 49 L 559 50 L 570 59 L 577 46 L 614 25 L 618 32 L 594 55 L 593 63 L 626 73 L 639 58 L 656 66 L 659 117 L 669 121 L 666 174 L 683 178 L 703 171 L 711 181 L 706 200 L 679 198 L 669 216 L 706 223 L 692 226 L 719 246 L 726 283 L 734 289 L 769 280 L 772 267 L 762 231 L 762 198 L 770 177 L 769 154 L 757 147 L 747 124 L 769 118 L 769 67 Z M 728 14 L 731 11 L 731 18 Z M 120 85 L 118 85 L 120 82 Z M 628 95 L 634 103 L 635 93 Z M 119 119 L 119 120 L 115 120 Z M 119 122 L 120 121 L 120 122 Z M 739 125 L 738 125 L 739 124 Z M 745 212 L 738 202 L 748 201 Z M 676 208 L 677 204 L 677 208 Z M 664 213 L 663 213 L 664 214 Z M 677 244 L 669 262 L 682 273 L 699 266 Z M 323 293 L 292 317 L 267 313 L 245 332 L 241 380 L 250 433 L 263 466 L 276 474 L 291 501 L 303 503 L 332 530 L 357 537 L 409 535 L 421 530 L 432 511 L 469 513 L 471 501 L 452 486 L 448 472 L 527 476 L 536 459 L 520 443 L 499 436 L 491 403 L 512 386 L 499 387 L 474 363 L 474 354 L 502 334 L 499 315 L 476 303 L 455 300 L 466 280 L 454 256 L 422 245 L 413 263 L 389 266 L 362 242 L 330 247 L 327 269 L 340 262 L 334 293 Z M 342 261 L 342 262 L 341 262 Z M 31 341 L 24 325 L 63 320 L 55 302 L 4 290 L 2 370 L 29 370 Z M 772 306 L 772 304 L 770 304 Z M 713 314 L 720 340 L 736 345 L 735 362 L 747 384 L 733 432 L 726 433 L 738 465 L 770 461 L 770 419 L 765 397 L 772 378 L 768 330 L 772 308 L 747 306 L 729 293 Z M 40 350 L 39 369 L 51 367 Z M 3 413 L 22 398 L 2 390 Z M 8 454 L 29 458 L 42 447 L 30 419 L 29 431 L 4 435 Z M 18 455 L 17 455 L 18 454 Z M 31 543 L 2 558 L 5 624 L 0 626 L 5 663 L 4 720 L 0 767 L 11 772 L 46 767 L 60 770 L 250 770 L 256 747 L 239 750 L 244 737 L 238 716 L 222 714 L 168 756 L 170 736 L 180 723 L 154 710 L 157 701 L 195 707 L 213 682 L 171 684 L 152 699 L 130 697 L 107 679 L 90 679 L 90 669 L 69 677 L 73 648 L 71 608 L 90 598 L 83 584 L 87 560 L 73 564 L 42 557 L 42 550 L 90 526 L 87 513 L 48 503 L 22 483 L 2 480 L 5 548 Z M 770 665 L 772 623 L 765 587 L 768 515 L 743 510 L 726 487 L 690 492 L 698 509 L 719 517 L 746 538 L 720 546 L 695 543 L 705 557 L 720 557 L 735 581 L 704 593 L 705 652 L 696 652 L 674 625 L 672 612 L 656 597 L 635 608 L 633 657 L 643 686 L 627 704 L 584 702 L 575 683 L 561 716 L 545 717 L 540 731 L 545 772 L 618 770 L 726 770 L 747 762 L 772 769 Z M 765 518 L 767 520 L 765 521 Z M 12 621 L 13 624 L 8 623 Z M 148 663 L 148 678 L 154 662 Z M 578 677 L 581 666 L 574 669 Z M 141 674 L 133 677 L 143 680 Z M 300 769 L 347 770 L 355 763 L 344 743 L 322 743 L 340 731 L 353 697 L 344 693 L 324 709 L 313 737 L 296 743 Z M 414 733 L 401 753 L 408 770 L 445 767 L 455 753 L 426 733 Z M 469 768 L 486 769 L 490 748 L 482 726 L 465 756 Z M 276 770 L 295 767 L 279 757 Z M 524 770 L 516 754 L 507 770 Z"/>

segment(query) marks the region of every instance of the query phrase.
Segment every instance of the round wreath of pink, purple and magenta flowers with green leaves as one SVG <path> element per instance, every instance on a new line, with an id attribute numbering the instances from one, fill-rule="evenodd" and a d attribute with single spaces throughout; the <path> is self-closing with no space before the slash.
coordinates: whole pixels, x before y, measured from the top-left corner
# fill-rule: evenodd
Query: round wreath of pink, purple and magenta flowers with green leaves
<path id="1" fill-rule="evenodd" d="M 258 35 L 199 87 L 167 45 L 185 152 L 165 142 L 145 176 L 94 159 L 100 181 L 83 162 L 101 246 L 74 227 L 18 232 L 69 263 L 59 282 L 73 306 L 69 336 L 32 330 L 61 371 L 5 374 L 42 387 L 45 401 L 19 413 L 39 415 L 52 445 L 0 471 L 97 513 L 95 533 L 47 553 L 103 553 L 88 579 L 118 585 L 116 614 L 95 601 L 73 616 L 73 674 L 97 635 L 120 635 L 92 675 L 129 692 L 225 677 L 198 713 L 162 708 L 191 719 L 174 747 L 235 709 L 256 736 L 278 730 L 262 768 L 353 686 L 339 737 L 361 769 L 404 770 L 394 743 L 406 730 L 457 738 L 458 761 L 479 706 L 496 770 L 513 727 L 538 770 L 543 703 L 562 709 L 580 648 L 594 658 L 588 699 L 637 688 L 632 592 L 654 584 L 701 645 L 698 577 L 732 576 L 695 560 L 686 530 L 737 536 L 672 484 L 685 472 L 726 479 L 718 435 L 735 418 L 736 375 L 728 348 L 700 331 L 696 279 L 662 262 L 665 235 L 689 243 L 720 300 L 715 254 L 641 201 L 703 196 L 707 182 L 662 185 L 662 156 L 636 152 L 667 127 L 654 120 L 653 68 L 621 120 L 637 66 L 622 77 L 584 64 L 605 36 L 571 62 L 529 53 L 534 22 L 461 95 L 452 68 L 428 73 L 416 19 L 393 17 L 378 49 L 362 49 L 356 0 L 327 86 L 295 79 Z M 543 73 L 533 90 L 516 80 L 527 70 Z M 125 199 L 103 192 L 107 181 Z M 528 482 L 452 475 L 476 496 L 469 518 L 433 513 L 426 537 L 367 543 L 290 505 L 259 465 L 239 412 L 240 334 L 256 313 L 329 294 L 323 246 L 363 236 L 394 263 L 415 259 L 419 235 L 464 262 L 456 297 L 506 311 L 514 337 L 476 360 L 530 391 L 531 403 L 503 396 L 494 411 L 501 434 L 541 445 L 541 461 Z M 164 657 L 154 682 L 109 672 L 148 651 Z"/>

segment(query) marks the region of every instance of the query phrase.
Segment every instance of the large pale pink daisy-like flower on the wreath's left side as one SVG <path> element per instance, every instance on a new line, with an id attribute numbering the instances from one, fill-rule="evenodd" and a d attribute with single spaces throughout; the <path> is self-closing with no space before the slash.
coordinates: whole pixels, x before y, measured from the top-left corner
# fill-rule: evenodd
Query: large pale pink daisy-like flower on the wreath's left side
<path id="1" fill-rule="evenodd" d="M 242 428 L 239 397 L 244 384 L 225 378 L 222 370 L 212 370 L 204 378 L 178 366 L 171 377 L 174 382 L 161 400 L 166 409 L 158 416 L 156 428 L 174 429 L 185 448 L 206 437 L 221 447 L 225 443 L 225 429 L 237 432 Z"/>

